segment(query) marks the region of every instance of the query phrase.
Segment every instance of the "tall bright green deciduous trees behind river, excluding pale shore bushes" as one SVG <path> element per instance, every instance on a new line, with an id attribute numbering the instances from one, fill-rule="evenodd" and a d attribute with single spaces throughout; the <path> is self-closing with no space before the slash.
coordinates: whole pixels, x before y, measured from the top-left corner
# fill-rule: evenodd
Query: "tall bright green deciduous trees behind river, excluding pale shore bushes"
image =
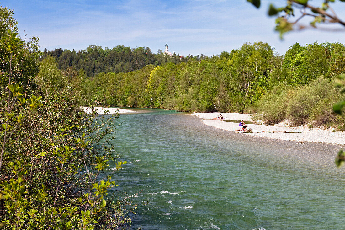
<path id="1" fill-rule="evenodd" d="M 277 87 L 297 90 L 319 76 L 333 87 L 332 78 L 345 73 L 344 58 L 345 46 L 340 43 L 296 43 L 279 55 L 267 43 L 247 42 L 199 61 L 193 57 L 128 73 L 100 73 L 86 80 L 83 94 L 88 100 L 102 98 L 104 106 L 263 112 L 260 101 Z M 338 93 L 334 94 L 327 97 L 335 100 Z"/>

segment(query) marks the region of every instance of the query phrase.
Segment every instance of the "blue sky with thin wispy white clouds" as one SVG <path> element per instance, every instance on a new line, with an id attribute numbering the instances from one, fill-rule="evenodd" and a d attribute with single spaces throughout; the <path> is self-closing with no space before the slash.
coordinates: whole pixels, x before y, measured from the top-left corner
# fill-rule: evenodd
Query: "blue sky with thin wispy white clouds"
<path id="1" fill-rule="evenodd" d="M 301 45 L 339 41 L 345 29 L 307 29 L 290 32 L 280 40 L 274 17 L 267 16 L 269 3 L 283 6 L 284 0 L 264 0 L 258 10 L 246 0 L 7 0 L 1 5 L 14 10 L 20 36 L 39 37 L 41 50 L 86 49 L 89 45 L 112 48 L 150 47 L 176 54 L 205 54 L 238 49 L 244 42 L 263 41 L 284 54 L 295 42 Z M 310 1 L 319 5 L 321 1 Z M 332 4 L 345 20 L 345 3 Z M 307 25 L 308 21 L 302 22 Z"/>

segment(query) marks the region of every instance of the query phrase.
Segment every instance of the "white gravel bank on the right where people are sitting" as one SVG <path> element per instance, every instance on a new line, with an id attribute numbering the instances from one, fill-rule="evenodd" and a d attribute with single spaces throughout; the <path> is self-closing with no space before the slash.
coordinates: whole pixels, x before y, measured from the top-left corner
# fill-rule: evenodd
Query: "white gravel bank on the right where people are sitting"
<path id="1" fill-rule="evenodd" d="M 220 113 L 192 113 L 189 115 L 198 116 L 202 118 L 202 122 L 206 125 L 213 126 L 215 128 L 220 128 L 222 130 L 227 130 L 230 132 L 238 132 L 235 131 L 235 128 L 239 129 L 238 123 L 224 122 L 213 119 L 219 116 L 219 114 Z M 250 116 L 250 114 L 221 113 L 221 115 L 225 119 L 229 120 L 253 121 L 252 116 Z M 279 123 L 276 125 L 249 124 L 248 127 L 253 131 L 265 131 L 244 133 L 250 136 L 268 137 L 278 140 L 298 141 L 300 144 L 303 144 L 303 142 L 318 142 L 328 144 L 340 144 L 345 146 L 345 133 L 332 132 L 332 128 L 329 128 L 327 130 L 322 128 L 308 128 L 306 124 L 298 127 L 286 127 L 286 124 L 284 123 Z M 286 131 L 300 133 L 285 133 Z"/>

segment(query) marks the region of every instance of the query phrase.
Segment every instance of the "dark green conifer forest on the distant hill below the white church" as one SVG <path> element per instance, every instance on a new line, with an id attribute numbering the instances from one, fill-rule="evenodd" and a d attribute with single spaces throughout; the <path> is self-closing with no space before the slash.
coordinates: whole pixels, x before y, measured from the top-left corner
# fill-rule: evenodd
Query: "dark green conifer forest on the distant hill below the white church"
<path id="1" fill-rule="evenodd" d="M 69 67 L 76 69 L 77 71 L 83 69 L 88 77 L 93 77 L 99 73 L 127 73 L 130 71 L 138 70 L 146 65 L 161 65 L 167 62 L 175 64 L 186 62 L 190 58 L 196 60 L 202 60 L 199 55 L 193 56 L 188 55 L 180 57 L 175 52 L 172 57 L 164 55 L 162 50 L 158 50 L 157 54 L 152 53 L 149 47 L 138 47 L 136 49 L 120 46 L 112 49 L 102 49 L 101 46 L 92 45 L 87 47 L 85 50 L 78 50 L 77 52 L 73 49 L 62 50 L 61 48 L 47 51 L 45 48 L 40 59 L 47 57 L 53 57 L 57 63 L 57 67 L 61 70 L 66 70 Z"/>

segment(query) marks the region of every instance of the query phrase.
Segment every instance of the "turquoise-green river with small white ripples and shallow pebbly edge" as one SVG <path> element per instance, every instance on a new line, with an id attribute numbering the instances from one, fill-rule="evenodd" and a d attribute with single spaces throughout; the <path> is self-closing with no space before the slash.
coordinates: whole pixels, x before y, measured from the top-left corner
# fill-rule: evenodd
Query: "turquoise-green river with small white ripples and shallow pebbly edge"
<path id="1" fill-rule="evenodd" d="M 136 109 L 138 110 L 138 109 Z M 338 146 L 248 137 L 161 109 L 121 114 L 117 190 L 142 229 L 344 229 Z M 130 163 L 129 163 L 130 162 Z"/>

